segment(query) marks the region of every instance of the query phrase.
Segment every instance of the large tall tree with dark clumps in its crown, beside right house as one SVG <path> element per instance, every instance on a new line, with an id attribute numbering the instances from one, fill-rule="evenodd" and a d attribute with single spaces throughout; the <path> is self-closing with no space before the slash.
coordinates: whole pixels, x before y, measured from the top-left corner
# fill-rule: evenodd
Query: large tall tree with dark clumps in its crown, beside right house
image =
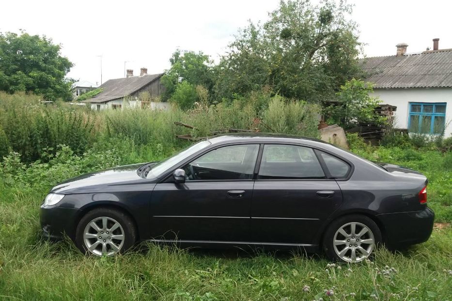
<path id="1" fill-rule="evenodd" d="M 263 25 L 237 34 L 217 68 L 215 92 L 233 97 L 269 85 L 289 98 L 322 101 L 358 76 L 357 25 L 345 1 L 281 1 Z"/>

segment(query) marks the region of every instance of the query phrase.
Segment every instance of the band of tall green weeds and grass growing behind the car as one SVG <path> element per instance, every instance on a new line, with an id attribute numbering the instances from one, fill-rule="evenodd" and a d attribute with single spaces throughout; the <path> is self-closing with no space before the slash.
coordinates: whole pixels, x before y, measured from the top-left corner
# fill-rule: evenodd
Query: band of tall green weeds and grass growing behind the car
<path id="1" fill-rule="evenodd" d="M 9 148 L 20 153 L 23 161 L 32 162 L 42 159 L 44 152 L 54 153 L 60 144 L 81 154 L 94 145 L 97 149 L 99 144 L 109 145 L 110 139 L 117 138 L 130 139 L 135 145 L 160 145 L 174 150 L 186 144 L 176 135 L 203 137 L 230 128 L 317 136 L 317 106 L 279 96 L 266 101 L 270 104 L 262 112 L 257 112 L 252 102 L 244 101 L 201 103 L 189 111 L 172 107 L 169 111 L 125 108 L 98 112 L 65 104 L 42 105 L 36 96 L 0 92 L 0 142 L 4 145 L 0 148 L 0 160 Z M 256 121 L 260 115 L 263 122 Z M 174 121 L 195 129 L 175 126 Z"/>

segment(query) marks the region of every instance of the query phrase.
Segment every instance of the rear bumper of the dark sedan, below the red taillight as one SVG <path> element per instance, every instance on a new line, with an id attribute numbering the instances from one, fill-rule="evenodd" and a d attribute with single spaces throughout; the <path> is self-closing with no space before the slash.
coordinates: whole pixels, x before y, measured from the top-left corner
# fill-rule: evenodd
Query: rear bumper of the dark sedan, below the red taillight
<path id="1" fill-rule="evenodd" d="M 400 248 L 427 241 L 433 231 L 435 213 L 426 206 L 421 211 L 385 213 L 377 217 L 385 227 L 386 245 Z"/>

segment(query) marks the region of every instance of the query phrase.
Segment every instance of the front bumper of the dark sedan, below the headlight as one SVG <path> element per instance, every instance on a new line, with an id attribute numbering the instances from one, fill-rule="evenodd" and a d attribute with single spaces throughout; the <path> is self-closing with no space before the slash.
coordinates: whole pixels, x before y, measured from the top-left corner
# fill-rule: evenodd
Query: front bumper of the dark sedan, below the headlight
<path id="1" fill-rule="evenodd" d="M 75 231 L 80 210 L 55 206 L 41 207 L 40 220 L 43 236 L 51 240 L 61 240 L 63 234 L 75 239 Z"/>

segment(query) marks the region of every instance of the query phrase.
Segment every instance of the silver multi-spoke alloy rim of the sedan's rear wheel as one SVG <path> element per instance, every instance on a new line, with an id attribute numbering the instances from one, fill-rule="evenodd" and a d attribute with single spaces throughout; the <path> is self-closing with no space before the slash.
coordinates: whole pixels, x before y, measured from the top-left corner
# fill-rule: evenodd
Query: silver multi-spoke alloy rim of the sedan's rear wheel
<path id="1" fill-rule="evenodd" d="M 359 262 L 369 257 L 374 250 L 374 234 L 364 224 L 347 223 L 334 234 L 333 246 L 337 256 L 342 260 Z"/>

